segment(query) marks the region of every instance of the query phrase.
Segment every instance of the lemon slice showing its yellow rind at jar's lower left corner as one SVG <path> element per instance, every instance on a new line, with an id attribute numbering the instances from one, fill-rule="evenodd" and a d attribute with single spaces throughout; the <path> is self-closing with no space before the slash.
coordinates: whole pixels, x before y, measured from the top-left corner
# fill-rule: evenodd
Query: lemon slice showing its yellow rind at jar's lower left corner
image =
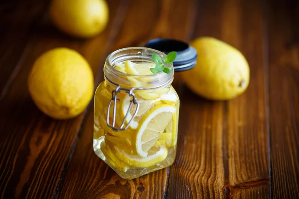
<path id="1" fill-rule="evenodd" d="M 114 153 L 112 152 L 112 150 L 110 149 L 110 147 L 108 145 L 106 145 L 105 142 L 101 143 L 101 150 L 105 156 L 105 158 L 107 159 L 107 161 L 116 169 L 123 171 L 123 172 L 127 172 L 128 169 L 130 168 L 130 165 L 126 164 L 125 162 L 121 161 L 119 158 L 117 158 Z"/>

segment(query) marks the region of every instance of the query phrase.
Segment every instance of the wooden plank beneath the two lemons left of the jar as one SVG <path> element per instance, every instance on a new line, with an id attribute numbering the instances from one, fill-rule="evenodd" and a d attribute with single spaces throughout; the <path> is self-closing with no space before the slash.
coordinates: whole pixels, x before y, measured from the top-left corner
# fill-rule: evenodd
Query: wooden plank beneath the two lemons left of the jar
<path id="1" fill-rule="evenodd" d="M 78 50 L 96 73 L 113 39 L 111 32 L 117 29 L 113 21 L 122 17 L 117 13 L 119 1 L 108 3 L 110 23 L 90 40 L 62 35 L 50 21 L 38 30 L 32 50 L 0 103 L 1 198 L 53 198 L 55 190 L 59 192 L 84 113 L 69 120 L 54 120 L 42 114 L 29 97 L 28 73 L 40 54 L 61 46 Z"/>

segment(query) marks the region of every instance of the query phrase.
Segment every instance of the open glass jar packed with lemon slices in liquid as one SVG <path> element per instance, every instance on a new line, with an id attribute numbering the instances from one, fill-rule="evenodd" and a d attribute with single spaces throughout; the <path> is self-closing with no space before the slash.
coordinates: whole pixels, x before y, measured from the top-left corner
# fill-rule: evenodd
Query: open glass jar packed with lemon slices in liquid
<path id="1" fill-rule="evenodd" d="M 168 167 L 176 155 L 179 97 L 171 86 L 173 65 L 165 64 L 170 74 L 151 73 L 152 54 L 166 56 L 144 47 L 111 53 L 95 92 L 94 152 L 124 179 Z"/>

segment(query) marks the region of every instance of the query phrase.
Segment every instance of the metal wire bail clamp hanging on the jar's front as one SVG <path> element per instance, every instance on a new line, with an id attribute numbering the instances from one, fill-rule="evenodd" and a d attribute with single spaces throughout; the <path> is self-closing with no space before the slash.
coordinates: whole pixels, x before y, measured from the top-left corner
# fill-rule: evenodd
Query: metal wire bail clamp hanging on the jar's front
<path id="1" fill-rule="evenodd" d="M 107 110 L 107 126 L 110 127 L 110 128 L 112 128 L 114 131 L 127 130 L 127 128 L 130 126 L 131 121 L 136 116 L 136 114 L 137 114 L 137 112 L 139 110 L 139 103 L 137 102 L 135 94 L 133 93 L 133 91 L 135 89 L 137 89 L 137 88 L 126 89 L 126 88 L 121 88 L 120 85 L 118 85 L 116 87 L 116 89 L 112 91 L 112 93 L 111 93 L 112 94 L 112 98 L 111 98 L 111 100 L 109 102 L 108 110 Z M 129 105 L 129 108 L 128 108 L 127 112 L 126 112 L 124 120 L 122 121 L 121 126 L 118 128 L 118 127 L 115 127 L 116 103 L 117 103 L 117 100 L 120 101 L 120 99 L 117 98 L 117 93 L 120 93 L 122 90 L 125 91 L 126 93 L 128 93 L 129 96 L 132 97 L 132 99 L 130 100 L 130 105 Z M 112 101 L 114 101 L 114 103 L 113 103 L 113 118 L 112 118 L 112 125 L 111 125 L 110 122 L 109 122 L 109 115 L 110 115 L 110 107 L 111 107 Z M 125 122 L 127 120 L 127 117 L 129 116 L 129 113 L 130 113 L 130 110 L 131 110 L 133 104 L 136 105 L 136 110 L 135 110 L 132 118 L 130 119 L 130 121 L 124 127 Z"/>

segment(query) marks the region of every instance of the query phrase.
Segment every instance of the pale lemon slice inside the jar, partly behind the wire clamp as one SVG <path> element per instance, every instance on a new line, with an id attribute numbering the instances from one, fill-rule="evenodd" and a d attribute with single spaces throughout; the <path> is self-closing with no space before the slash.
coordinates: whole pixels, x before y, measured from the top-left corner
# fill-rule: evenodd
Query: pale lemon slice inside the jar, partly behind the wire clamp
<path id="1" fill-rule="evenodd" d="M 120 112 L 120 117 L 121 117 L 122 120 L 125 118 L 126 113 L 129 109 L 129 106 L 130 106 L 130 103 L 131 103 L 130 100 L 131 100 L 131 97 L 128 94 L 124 99 L 121 100 L 121 105 L 120 105 L 119 112 Z M 145 112 L 149 111 L 149 109 L 152 107 L 152 104 L 153 104 L 152 101 L 142 100 L 142 99 L 137 99 L 137 102 L 139 103 L 139 110 L 137 111 L 136 116 L 131 121 L 130 126 L 129 126 L 130 129 L 133 129 L 133 130 L 137 129 L 141 116 L 144 115 Z M 129 111 L 129 114 L 126 117 L 125 124 L 128 124 L 128 122 L 130 121 L 130 119 L 134 115 L 136 107 L 137 107 L 136 105 L 134 105 L 134 104 L 132 105 L 132 107 Z"/>

